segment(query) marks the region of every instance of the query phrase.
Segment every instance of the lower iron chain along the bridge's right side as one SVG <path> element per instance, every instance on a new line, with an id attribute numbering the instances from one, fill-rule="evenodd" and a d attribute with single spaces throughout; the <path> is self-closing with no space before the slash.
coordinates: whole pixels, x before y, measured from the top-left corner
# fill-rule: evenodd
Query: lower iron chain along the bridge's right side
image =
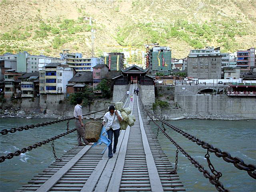
<path id="1" fill-rule="evenodd" d="M 152 122 L 160 128 L 161 132 L 174 144 L 174 146 L 177 147 L 177 149 L 180 150 L 180 152 L 182 152 L 186 156 L 186 158 L 188 158 L 188 160 L 190 160 L 190 162 L 196 168 L 198 168 L 198 170 L 200 172 L 203 172 L 204 177 L 208 178 L 209 182 L 211 184 L 213 184 L 218 191 L 220 191 L 220 192 L 230 192 L 229 190 L 224 188 L 223 184 L 219 180 L 216 180 L 214 176 L 212 176 L 207 170 L 205 170 L 204 167 L 199 164 L 199 162 L 197 162 L 188 153 L 186 153 L 186 151 L 183 148 L 181 148 L 164 130 L 162 130 L 162 128 L 154 120 L 152 120 Z"/>

